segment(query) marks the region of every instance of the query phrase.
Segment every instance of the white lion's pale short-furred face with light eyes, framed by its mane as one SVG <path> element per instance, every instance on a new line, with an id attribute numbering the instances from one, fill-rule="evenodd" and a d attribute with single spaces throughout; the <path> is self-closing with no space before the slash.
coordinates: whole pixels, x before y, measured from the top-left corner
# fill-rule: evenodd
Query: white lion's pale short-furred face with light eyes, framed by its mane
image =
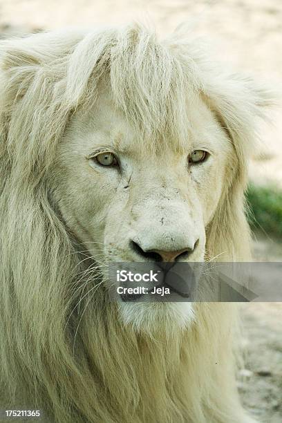
<path id="1" fill-rule="evenodd" d="M 55 179 L 60 212 L 79 250 L 98 263 L 204 260 L 205 227 L 223 190 L 232 145 L 200 98 L 187 113 L 190 138 L 181 145 L 159 140 L 158 146 L 143 142 L 105 85 L 93 107 L 73 116 Z M 138 319 L 145 306 L 153 307 L 135 304 Z M 126 320 L 133 307 L 122 303 Z M 191 320 L 191 303 L 159 307 L 177 311 L 182 323 Z"/>

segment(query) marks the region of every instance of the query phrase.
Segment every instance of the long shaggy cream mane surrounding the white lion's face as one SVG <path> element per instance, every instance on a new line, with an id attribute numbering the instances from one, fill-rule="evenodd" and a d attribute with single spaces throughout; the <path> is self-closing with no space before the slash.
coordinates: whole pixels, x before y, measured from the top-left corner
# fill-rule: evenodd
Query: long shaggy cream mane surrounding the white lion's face
<path id="1" fill-rule="evenodd" d="M 2 404 L 39 408 L 59 423 L 251 422 L 236 393 L 232 304 L 196 304 L 195 325 L 158 334 L 123 325 L 104 290 L 72 312 L 88 267 L 53 196 L 51 169 L 68 122 L 95 102 L 104 75 L 144 149 L 164 131 L 189 135 L 187 92 L 196 93 L 234 147 L 206 255 L 247 260 L 247 158 L 269 93 L 219 71 L 189 36 L 159 42 L 140 26 L 42 33 L 0 49 Z"/>

